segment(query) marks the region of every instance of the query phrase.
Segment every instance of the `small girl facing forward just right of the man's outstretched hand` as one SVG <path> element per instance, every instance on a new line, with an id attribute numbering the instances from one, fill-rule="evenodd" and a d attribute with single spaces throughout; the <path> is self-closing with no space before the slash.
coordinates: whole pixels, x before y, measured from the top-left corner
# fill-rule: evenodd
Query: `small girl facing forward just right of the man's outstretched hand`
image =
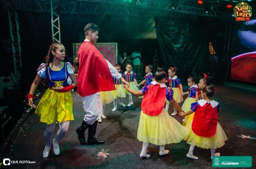
<path id="1" fill-rule="evenodd" d="M 129 83 L 129 87 L 131 89 L 139 91 L 139 88 L 137 87 L 138 83 L 136 81 L 136 73 L 133 73 L 131 71 L 131 64 L 127 63 L 125 68 L 126 68 L 126 71 L 122 74 L 122 77 L 124 77 L 125 81 Z M 128 94 L 129 96 L 129 103 L 127 107 L 130 107 L 133 104 L 131 94 L 126 89 L 125 89 L 125 93 Z"/>

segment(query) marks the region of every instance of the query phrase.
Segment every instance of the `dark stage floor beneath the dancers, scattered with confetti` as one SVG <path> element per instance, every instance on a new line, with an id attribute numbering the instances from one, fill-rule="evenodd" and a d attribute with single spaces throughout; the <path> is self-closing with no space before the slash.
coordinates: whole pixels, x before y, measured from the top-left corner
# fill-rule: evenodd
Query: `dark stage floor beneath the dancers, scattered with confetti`
<path id="1" fill-rule="evenodd" d="M 48 158 L 42 157 L 45 147 L 45 125 L 39 122 L 37 115 L 32 115 L 20 130 L 17 140 L 11 147 L 11 160 L 35 161 L 31 164 L 11 164 L 9 168 L 212 168 L 210 150 L 195 148 L 194 155 L 198 160 L 189 159 L 186 154 L 189 145 L 185 141 L 178 144 L 166 145 L 170 152 L 167 156 L 158 155 L 159 146 L 149 145 L 149 159 L 139 157 L 142 142 L 137 140 L 137 128 L 140 117 L 141 99 L 133 96 L 134 105 L 129 108 L 119 106 L 112 112 L 113 103 L 106 105 L 102 124 L 98 124 L 97 138 L 105 140 L 102 145 L 80 145 L 75 129 L 81 124 L 84 111 L 80 96 L 72 92 L 73 113 L 75 120 L 70 123 L 67 135 L 60 142 L 60 155 L 55 156 L 52 147 Z M 256 92 L 245 89 L 216 85 L 214 98 L 220 103 L 218 113 L 219 123 L 223 127 L 228 140 L 217 149 L 221 156 L 252 156 L 252 168 L 256 168 L 256 140 L 243 139 L 237 135 L 256 137 Z M 128 103 L 128 97 L 123 99 Z M 173 112 L 170 107 L 169 113 Z M 28 114 L 23 114 L 16 127 L 24 122 Z M 180 123 L 182 118 L 174 116 Z M 56 125 L 53 137 L 56 136 Z M 86 131 L 87 137 L 88 131 Z M 8 141 L 8 139 L 7 139 Z M 8 144 L 1 146 L 1 151 L 8 148 Z M 108 150 L 106 158 L 97 159 L 101 149 Z M 1 153 L 1 154 L 2 154 Z M 2 162 L 2 161 L 1 161 Z M 3 166 L 2 166 L 3 167 Z"/>

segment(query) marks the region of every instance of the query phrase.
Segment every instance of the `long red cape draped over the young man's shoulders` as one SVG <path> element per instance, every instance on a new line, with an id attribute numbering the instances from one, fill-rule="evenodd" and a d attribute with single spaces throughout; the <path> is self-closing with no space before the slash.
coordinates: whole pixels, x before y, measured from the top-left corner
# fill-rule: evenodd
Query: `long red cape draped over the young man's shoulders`
<path id="1" fill-rule="evenodd" d="M 91 42 L 81 44 L 78 59 L 77 92 L 80 96 L 116 89 L 107 61 Z"/>

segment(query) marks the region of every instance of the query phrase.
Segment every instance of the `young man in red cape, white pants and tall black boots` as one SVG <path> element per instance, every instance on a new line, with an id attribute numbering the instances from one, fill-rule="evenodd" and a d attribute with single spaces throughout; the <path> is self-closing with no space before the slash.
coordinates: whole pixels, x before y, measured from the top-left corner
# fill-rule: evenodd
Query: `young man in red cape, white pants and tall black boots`
<path id="1" fill-rule="evenodd" d="M 93 43 L 98 40 L 99 27 L 94 23 L 85 26 L 85 41 L 78 51 L 78 94 L 82 97 L 83 108 L 86 115 L 82 125 L 76 129 L 80 144 L 84 145 L 85 130 L 88 128 L 88 145 L 103 144 L 95 137 L 98 119 L 102 115 L 102 103 L 100 91 L 115 90 L 112 76 L 120 79 L 126 84 L 124 78 L 117 72 L 102 54 L 96 49 Z"/>

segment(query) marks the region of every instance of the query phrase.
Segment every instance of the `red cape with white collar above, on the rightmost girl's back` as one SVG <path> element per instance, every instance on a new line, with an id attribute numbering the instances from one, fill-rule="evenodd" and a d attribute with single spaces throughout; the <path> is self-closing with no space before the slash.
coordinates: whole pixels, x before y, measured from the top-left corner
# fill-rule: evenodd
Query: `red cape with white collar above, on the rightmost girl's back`
<path id="1" fill-rule="evenodd" d="M 217 108 L 211 104 L 205 104 L 203 107 L 197 106 L 192 122 L 193 132 L 201 137 L 213 137 L 216 133 L 218 123 Z"/>

